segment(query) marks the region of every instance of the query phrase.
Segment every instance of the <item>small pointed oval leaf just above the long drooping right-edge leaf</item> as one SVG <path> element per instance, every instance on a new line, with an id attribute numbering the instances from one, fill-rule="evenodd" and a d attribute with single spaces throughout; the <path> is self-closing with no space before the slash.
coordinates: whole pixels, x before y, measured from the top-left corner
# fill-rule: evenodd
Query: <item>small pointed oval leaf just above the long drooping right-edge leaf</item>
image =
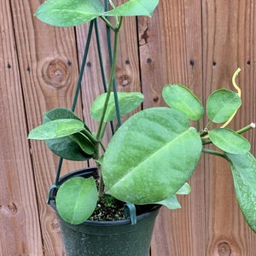
<path id="1" fill-rule="evenodd" d="M 251 148 L 245 137 L 230 129 L 217 128 L 208 134 L 215 146 L 231 154 L 246 154 Z"/>

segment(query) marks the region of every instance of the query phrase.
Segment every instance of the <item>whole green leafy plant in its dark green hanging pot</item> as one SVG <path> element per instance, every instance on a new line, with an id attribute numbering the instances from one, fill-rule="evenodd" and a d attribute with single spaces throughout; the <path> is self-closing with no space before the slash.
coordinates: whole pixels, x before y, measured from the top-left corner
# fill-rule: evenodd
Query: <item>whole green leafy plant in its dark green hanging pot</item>
<path id="1" fill-rule="evenodd" d="M 108 4 L 110 10 L 106 9 Z M 203 153 L 228 160 L 241 212 L 256 231 L 256 162 L 249 153 L 250 143 L 241 136 L 255 125 L 247 125 L 239 131 L 227 128 L 241 107 L 241 90 L 236 85 L 239 69 L 232 78 L 237 92 L 213 91 L 206 109 L 187 87 L 166 84 L 162 95 L 168 107 L 144 109 L 120 125 L 120 116 L 130 113 L 143 102 L 141 93 L 121 93 L 113 86 L 120 28 L 125 16 L 150 16 L 157 4 L 157 0 L 130 0 L 116 7 L 110 0 L 105 4 L 101 0 L 48 0 L 36 13 L 40 20 L 53 26 L 78 26 L 101 19 L 114 35 L 107 92 L 96 98 L 90 110 L 92 118 L 99 123 L 97 131 L 90 131 L 72 110 L 55 108 L 44 113 L 43 125 L 34 128 L 28 136 L 45 140 L 61 158 L 93 159 L 96 162 L 96 168 L 71 172 L 61 179 L 59 170 L 50 189 L 49 203 L 56 207 L 61 230 L 74 238 L 63 235 L 67 254 L 124 255 L 125 252 L 125 255 L 148 255 L 154 218 L 159 209 L 156 206 L 180 207 L 176 194 L 189 194 L 187 182 Z M 206 117 L 209 121 L 201 129 L 201 119 Z M 106 125 L 115 119 L 119 119 L 119 128 L 108 146 L 104 146 L 102 139 Z M 216 124 L 219 124 L 218 128 Z M 212 145 L 217 149 L 212 149 Z M 137 222 L 136 225 L 129 224 L 127 219 L 120 223 L 88 220 L 93 218 L 91 216 L 99 205 L 105 203 L 113 207 L 120 202 L 125 205 L 125 216 L 130 217 L 132 224 Z M 136 207 L 137 211 L 145 207 L 149 212 L 136 217 L 135 205 L 143 206 Z M 119 233 L 108 230 L 113 225 L 119 226 L 123 241 L 119 241 Z M 92 230 L 90 226 L 93 226 Z M 127 226 L 132 230 L 126 230 Z M 82 228 L 90 230 L 92 240 L 88 234 L 84 235 Z M 141 230 L 145 231 L 144 235 Z M 96 238 L 98 232 L 101 234 Z M 137 234 L 145 236 L 145 245 L 140 245 L 141 238 L 138 239 Z M 125 246 L 118 249 L 118 243 L 125 243 Z M 95 247 L 96 251 L 93 251 Z M 78 252 L 74 253 L 75 250 Z"/>

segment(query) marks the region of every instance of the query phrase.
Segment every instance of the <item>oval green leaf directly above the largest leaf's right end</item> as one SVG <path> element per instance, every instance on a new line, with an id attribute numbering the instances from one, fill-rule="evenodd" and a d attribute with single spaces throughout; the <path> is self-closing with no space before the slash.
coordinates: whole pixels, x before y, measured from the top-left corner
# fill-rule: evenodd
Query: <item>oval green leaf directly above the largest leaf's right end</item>
<path id="1" fill-rule="evenodd" d="M 168 106 L 184 113 L 189 119 L 199 120 L 203 116 L 201 101 L 182 84 L 166 84 L 162 94 Z"/>

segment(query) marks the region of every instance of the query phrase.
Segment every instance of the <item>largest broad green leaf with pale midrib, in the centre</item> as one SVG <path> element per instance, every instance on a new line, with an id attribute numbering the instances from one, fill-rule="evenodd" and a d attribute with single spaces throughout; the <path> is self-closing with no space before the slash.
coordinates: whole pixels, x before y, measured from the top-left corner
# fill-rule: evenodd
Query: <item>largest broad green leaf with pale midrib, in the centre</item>
<path id="1" fill-rule="evenodd" d="M 136 113 L 115 133 L 102 160 L 107 192 L 135 204 L 165 200 L 188 181 L 201 149 L 183 113 L 172 108 Z"/>

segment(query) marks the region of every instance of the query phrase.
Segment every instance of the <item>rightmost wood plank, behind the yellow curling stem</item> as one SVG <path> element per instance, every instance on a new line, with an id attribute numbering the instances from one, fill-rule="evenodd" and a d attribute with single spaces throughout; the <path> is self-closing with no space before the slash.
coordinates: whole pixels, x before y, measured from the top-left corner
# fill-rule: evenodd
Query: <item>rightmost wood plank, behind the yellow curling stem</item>
<path id="1" fill-rule="evenodd" d="M 210 90 L 233 90 L 231 76 L 237 67 L 237 83 L 242 90 L 242 109 L 235 129 L 255 121 L 255 47 L 256 6 L 254 1 L 204 1 L 204 84 Z M 254 131 L 247 133 L 253 144 Z M 238 208 L 230 166 L 216 157 L 206 158 L 207 255 L 254 255 L 256 236 L 249 230 Z"/>

